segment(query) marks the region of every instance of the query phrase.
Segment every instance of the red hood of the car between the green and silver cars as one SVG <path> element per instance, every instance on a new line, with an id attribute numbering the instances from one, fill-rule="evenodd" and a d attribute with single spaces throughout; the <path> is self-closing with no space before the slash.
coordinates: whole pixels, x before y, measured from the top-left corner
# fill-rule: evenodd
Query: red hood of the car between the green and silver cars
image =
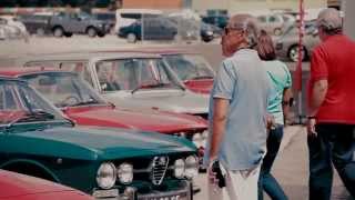
<path id="1" fill-rule="evenodd" d="M 128 128 L 163 133 L 206 129 L 204 119 L 158 111 L 113 109 L 109 106 L 67 108 L 65 114 L 80 126 Z"/>

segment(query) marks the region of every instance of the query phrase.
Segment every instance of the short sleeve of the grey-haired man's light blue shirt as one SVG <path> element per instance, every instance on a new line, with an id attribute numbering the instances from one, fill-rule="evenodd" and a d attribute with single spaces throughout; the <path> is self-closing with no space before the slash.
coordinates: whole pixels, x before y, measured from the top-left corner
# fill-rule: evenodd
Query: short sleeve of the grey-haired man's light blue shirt
<path id="1" fill-rule="evenodd" d="M 233 73 L 232 68 L 233 66 L 227 61 L 222 62 L 214 79 L 213 98 L 232 99 L 236 81 L 236 74 Z"/>

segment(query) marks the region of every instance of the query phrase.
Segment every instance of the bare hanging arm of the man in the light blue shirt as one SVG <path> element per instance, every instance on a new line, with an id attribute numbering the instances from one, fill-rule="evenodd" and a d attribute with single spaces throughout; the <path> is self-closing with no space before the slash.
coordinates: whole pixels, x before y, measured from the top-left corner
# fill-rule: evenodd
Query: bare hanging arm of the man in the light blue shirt
<path id="1" fill-rule="evenodd" d="M 217 157 L 220 144 L 225 131 L 225 122 L 227 118 L 227 110 L 230 107 L 230 100 L 215 98 L 213 102 L 213 130 L 210 149 L 210 160 L 214 160 Z"/>

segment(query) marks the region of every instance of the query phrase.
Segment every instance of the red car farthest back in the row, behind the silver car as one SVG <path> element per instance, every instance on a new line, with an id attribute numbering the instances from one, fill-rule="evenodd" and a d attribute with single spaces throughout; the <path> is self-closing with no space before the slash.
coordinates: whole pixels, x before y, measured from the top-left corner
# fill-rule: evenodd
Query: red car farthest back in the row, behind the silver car
<path id="1" fill-rule="evenodd" d="M 212 90 L 215 72 L 200 53 L 184 49 L 165 48 L 119 49 L 103 52 L 141 52 L 160 54 L 187 89 L 197 93 L 210 93 Z"/>

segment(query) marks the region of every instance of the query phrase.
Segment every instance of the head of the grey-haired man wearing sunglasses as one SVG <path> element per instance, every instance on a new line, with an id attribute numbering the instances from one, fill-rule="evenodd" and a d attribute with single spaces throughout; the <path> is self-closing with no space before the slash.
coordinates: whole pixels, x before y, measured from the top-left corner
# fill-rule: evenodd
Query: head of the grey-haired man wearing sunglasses
<path id="1" fill-rule="evenodd" d="M 253 48 L 257 40 L 256 19 L 250 14 L 233 16 L 222 37 L 223 56 L 231 57 L 241 48 Z"/>

